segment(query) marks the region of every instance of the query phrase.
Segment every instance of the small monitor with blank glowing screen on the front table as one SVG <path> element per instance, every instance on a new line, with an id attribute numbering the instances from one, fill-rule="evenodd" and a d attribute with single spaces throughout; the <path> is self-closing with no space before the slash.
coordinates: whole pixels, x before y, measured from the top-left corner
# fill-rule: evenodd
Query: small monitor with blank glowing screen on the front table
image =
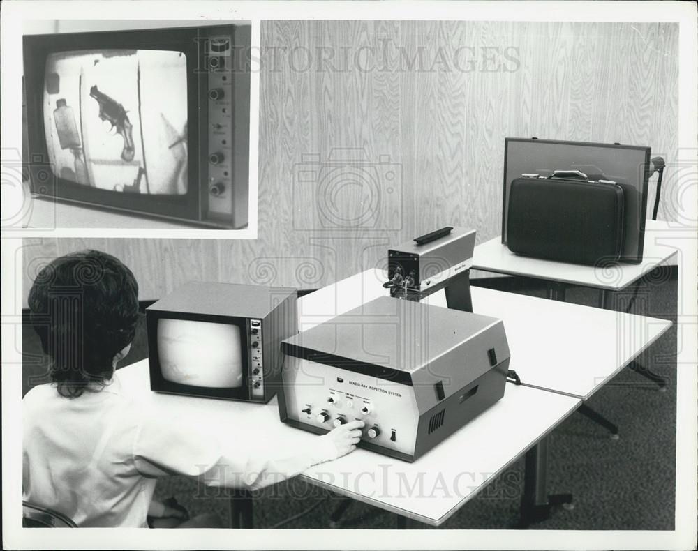
<path id="1" fill-rule="evenodd" d="M 146 310 L 151 390 L 268 402 L 281 341 L 298 331 L 296 292 L 190 282 Z"/>

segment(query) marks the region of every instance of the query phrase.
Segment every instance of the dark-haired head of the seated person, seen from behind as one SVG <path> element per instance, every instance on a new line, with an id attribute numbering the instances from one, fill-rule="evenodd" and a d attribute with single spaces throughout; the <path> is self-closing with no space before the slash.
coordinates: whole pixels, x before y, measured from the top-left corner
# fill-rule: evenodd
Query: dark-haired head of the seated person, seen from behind
<path id="1" fill-rule="evenodd" d="M 45 266 L 29 292 L 30 321 L 52 360 L 58 393 L 101 390 L 128 354 L 138 322 L 138 282 L 119 259 L 88 250 Z"/>

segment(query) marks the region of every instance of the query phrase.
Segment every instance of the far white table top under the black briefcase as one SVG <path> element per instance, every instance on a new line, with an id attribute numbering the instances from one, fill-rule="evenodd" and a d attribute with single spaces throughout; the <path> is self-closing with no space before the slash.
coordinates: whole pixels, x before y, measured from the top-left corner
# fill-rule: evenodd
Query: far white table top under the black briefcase
<path id="1" fill-rule="evenodd" d="M 665 229 L 666 222 L 646 220 L 644 251 L 640 264 L 619 263 L 608 268 L 597 268 L 522 257 L 514 255 L 502 244 L 501 236 L 498 236 L 475 247 L 473 269 L 617 291 L 638 280 L 656 266 L 676 263 L 678 248 L 662 239 L 662 231 Z"/>

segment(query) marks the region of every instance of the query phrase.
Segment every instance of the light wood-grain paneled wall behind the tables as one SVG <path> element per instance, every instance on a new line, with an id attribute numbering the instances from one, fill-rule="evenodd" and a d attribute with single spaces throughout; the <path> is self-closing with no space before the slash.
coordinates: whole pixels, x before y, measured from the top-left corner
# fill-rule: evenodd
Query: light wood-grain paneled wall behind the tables
<path id="1" fill-rule="evenodd" d="M 507 136 L 676 151 L 676 24 L 274 21 L 261 37 L 259 238 L 31 240 L 25 284 L 91 247 L 142 299 L 191 279 L 318 287 L 443 225 L 497 236 Z"/>

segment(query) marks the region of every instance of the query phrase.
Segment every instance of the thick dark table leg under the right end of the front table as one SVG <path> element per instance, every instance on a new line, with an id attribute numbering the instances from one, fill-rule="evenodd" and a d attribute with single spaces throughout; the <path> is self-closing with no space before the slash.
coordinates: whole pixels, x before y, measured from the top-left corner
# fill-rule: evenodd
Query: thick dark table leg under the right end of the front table
<path id="1" fill-rule="evenodd" d="M 572 508 L 572 494 L 548 494 L 548 437 L 526 452 L 525 465 L 520 528 L 549 518 L 554 506 Z"/>

